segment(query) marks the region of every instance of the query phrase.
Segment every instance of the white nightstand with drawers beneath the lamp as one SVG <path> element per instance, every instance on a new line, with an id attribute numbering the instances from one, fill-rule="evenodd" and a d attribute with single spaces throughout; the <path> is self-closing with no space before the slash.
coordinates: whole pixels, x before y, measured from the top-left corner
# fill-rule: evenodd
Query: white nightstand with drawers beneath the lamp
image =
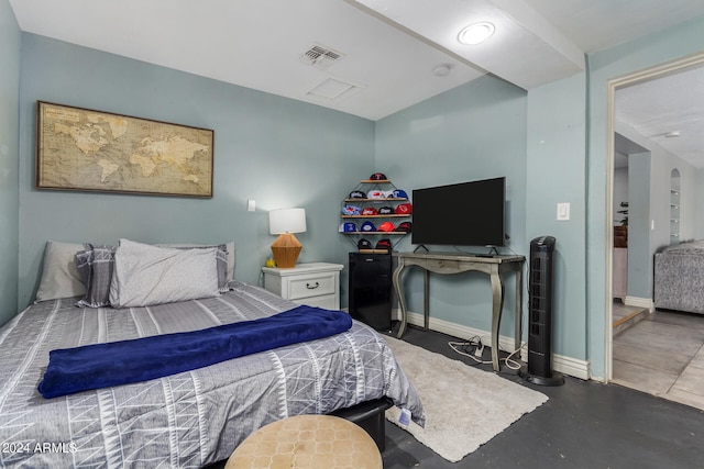
<path id="1" fill-rule="evenodd" d="M 290 269 L 262 267 L 264 288 L 298 304 L 340 309 L 340 264 L 297 264 Z"/>

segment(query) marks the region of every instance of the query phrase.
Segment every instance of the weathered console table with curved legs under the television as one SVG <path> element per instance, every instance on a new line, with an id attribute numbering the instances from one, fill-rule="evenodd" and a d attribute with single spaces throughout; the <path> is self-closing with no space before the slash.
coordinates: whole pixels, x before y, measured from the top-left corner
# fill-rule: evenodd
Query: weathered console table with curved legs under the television
<path id="1" fill-rule="evenodd" d="M 429 301 L 429 272 L 452 275 L 470 270 L 487 273 L 492 282 L 492 366 L 494 371 L 499 370 L 498 365 L 498 327 L 502 321 L 502 306 L 504 304 L 504 282 L 502 275 L 508 271 L 516 272 L 516 305 L 515 305 L 515 347 L 520 347 L 521 335 L 521 303 L 522 303 L 522 266 L 524 256 L 475 256 L 471 254 L 455 253 L 398 253 L 398 266 L 394 270 L 393 282 L 398 303 L 400 305 L 400 327 L 397 337 L 406 332 L 408 322 L 406 313 L 406 297 L 402 275 L 407 267 L 418 266 L 424 269 L 424 325 L 428 331 L 430 322 Z"/>

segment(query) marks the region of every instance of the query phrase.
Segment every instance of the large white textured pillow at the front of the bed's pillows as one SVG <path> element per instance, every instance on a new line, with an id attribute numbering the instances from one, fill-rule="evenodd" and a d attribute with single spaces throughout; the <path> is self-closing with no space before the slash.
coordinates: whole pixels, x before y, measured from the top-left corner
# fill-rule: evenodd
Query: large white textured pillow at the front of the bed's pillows
<path id="1" fill-rule="evenodd" d="M 175 249 L 120 239 L 110 283 L 112 308 L 217 297 L 217 247 Z"/>

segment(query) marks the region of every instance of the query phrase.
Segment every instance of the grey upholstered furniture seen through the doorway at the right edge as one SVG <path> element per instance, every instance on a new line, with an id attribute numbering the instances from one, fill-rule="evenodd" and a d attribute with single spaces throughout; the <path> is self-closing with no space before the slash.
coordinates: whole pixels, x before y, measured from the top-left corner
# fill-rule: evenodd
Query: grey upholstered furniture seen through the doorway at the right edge
<path id="1" fill-rule="evenodd" d="M 704 313 L 704 241 L 664 248 L 654 256 L 657 309 Z"/>

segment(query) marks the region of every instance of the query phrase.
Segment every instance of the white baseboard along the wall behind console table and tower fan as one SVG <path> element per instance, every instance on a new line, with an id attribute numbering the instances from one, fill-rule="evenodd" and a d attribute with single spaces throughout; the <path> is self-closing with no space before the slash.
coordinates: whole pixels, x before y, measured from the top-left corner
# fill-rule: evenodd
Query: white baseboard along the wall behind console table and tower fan
<path id="1" fill-rule="evenodd" d="M 393 314 L 395 315 L 396 319 L 400 319 L 400 313 L 398 310 L 394 311 Z M 422 327 L 424 324 L 424 316 L 422 314 L 419 313 L 413 313 L 409 312 L 408 313 L 408 324 L 413 324 L 416 326 L 420 326 Z M 437 317 L 432 317 L 430 316 L 430 323 L 429 323 L 430 330 L 431 331 L 437 331 L 437 332 L 441 332 L 443 334 L 448 334 L 451 335 L 453 337 L 459 337 L 459 338 L 472 338 L 474 336 L 480 336 L 482 337 L 482 340 L 485 344 L 491 344 L 491 337 L 492 337 L 492 333 L 490 331 L 482 331 L 482 330 L 477 330 L 474 327 L 469 327 L 462 324 L 457 324 L 457 323 L 451 323 L 449 321 L 444 321 L 444 320 L 439 320 Z M 522 343 L 522 349 L 521 349 L 521 360 L 526 361 L 527 360 L 527 344 Z M 507 350 L 507 351 L 513 351 L 514 350 L 514 337 L 507 337 L 507 336 L 503 336 L 499 335 L 498 336 L 498 347 L 502 350 Z M 557 355 L 553 354 L 552 355 L 552 368 L 558 371 L 561 372 L 563 375 L 569 375 L 579 379 L 590 379 L 590 362 L 585 361 L 585 360 L 579 360 L 572 357 L 566 357 L 563 355 Z"/>

